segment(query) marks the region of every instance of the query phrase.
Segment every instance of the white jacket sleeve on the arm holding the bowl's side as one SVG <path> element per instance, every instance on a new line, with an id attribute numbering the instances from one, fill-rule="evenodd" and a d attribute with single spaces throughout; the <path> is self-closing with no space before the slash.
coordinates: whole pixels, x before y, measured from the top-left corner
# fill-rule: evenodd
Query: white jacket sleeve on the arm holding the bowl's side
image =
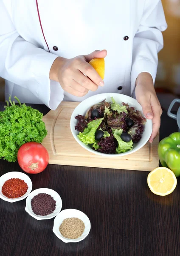
<path id="1" fill-rule="evenodd" d="M 140 73 L 150 73 L 155 82 L 158 52 L 163 49 L 162 31 L 166 28 L 161 0 L 145 0 L 141 23 L 133 40 L 131 95 L 134 94 L 135 81 Z"/>

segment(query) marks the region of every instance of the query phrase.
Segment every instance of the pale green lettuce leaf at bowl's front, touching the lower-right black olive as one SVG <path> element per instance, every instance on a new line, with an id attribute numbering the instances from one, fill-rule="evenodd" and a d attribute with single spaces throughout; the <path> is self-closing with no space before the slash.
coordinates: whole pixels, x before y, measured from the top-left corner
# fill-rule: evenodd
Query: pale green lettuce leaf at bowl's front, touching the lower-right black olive
<path id="1" fill-rule="evenodd" d="M 129 141 L 129 142 L 125 142 L 125 141 L 123 141 L 121 139 L 122 132 L 123 132 L 122 129 L 120 129 L 120 130 L 113 130 L 113 136 L 118 141 L 118 148 L 116 148 L 116 152 L 118 154 L 127 152 L 129 150 L 132 150 L 132 148 L 133 148 L 132 140 Z"/>

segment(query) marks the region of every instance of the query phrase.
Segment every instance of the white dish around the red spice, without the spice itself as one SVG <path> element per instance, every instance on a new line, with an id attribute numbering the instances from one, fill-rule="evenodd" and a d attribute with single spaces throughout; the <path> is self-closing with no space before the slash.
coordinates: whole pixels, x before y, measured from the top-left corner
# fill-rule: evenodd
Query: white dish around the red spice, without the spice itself
<path id="1" fill-rule="evenodd" d="M 20 180 L 24 180 L 25 183 L 28 185 L 28 191 L 23 196 L 21 196 L 19 198 L 7 198 L 2 193 L 2 186 L 4 185 L 5 181 L 9 180 L 9 179 L 13 179 L 13 178 L 18 178 Z M 32 181 L 31 181 L 30 177 L 28 177 L 28 175 L 26 175 L 25 173 L 23 173 L 23 172 L 7 172 L 0 177 L 0 198 L 3 199 L 4 201 L 10 202 L 10 203 L 14 203 L 14 202 L 23 200 L 30 194 L 32 187 L 33 187 Z"/>

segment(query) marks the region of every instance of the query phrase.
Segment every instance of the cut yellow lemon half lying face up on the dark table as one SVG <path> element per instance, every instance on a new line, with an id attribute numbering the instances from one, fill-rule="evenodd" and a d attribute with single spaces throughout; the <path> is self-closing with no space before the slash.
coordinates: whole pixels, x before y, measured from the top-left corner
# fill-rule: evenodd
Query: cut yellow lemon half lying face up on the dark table
<path id="1" fill-rule="evenodd" d="M 170 169 L 158 167 L 149 173 L 147 183 L 152 193 L 156 195 L 169 195 L 177 185 L 177 178 Z"/>

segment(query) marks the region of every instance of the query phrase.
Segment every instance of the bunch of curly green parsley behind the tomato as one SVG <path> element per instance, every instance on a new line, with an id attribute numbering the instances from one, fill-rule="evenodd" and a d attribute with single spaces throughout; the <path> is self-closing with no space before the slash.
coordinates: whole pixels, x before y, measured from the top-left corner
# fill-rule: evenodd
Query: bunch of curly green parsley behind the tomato
<path id="1" fill-rule="evenodd" d="M 17 97 L 14 97 L 17 99 Z M 25 104 L 6 101 L 5 111 L 0 111 L 0 158 L 16 162 L 17 152 L 24 143 L 41 143 L 47 135 L 43 114 Z M 9 105 L 10 103 L 10 105 Z"/>

